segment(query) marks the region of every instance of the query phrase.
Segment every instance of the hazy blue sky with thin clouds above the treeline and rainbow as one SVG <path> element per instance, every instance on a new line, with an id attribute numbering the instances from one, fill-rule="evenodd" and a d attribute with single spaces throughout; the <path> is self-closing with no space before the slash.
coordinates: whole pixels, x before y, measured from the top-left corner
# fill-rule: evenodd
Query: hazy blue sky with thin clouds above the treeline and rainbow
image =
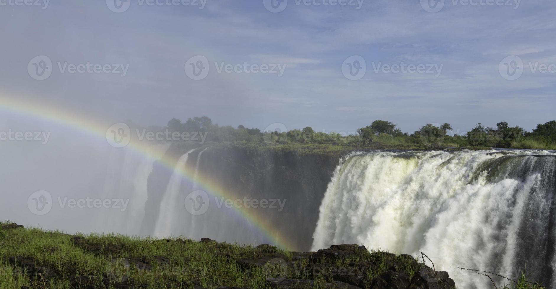
<path id="1" fill-rule="evenodd" d="M 464 132 L 476 122 L 507 121 L 530 130 L 556 119 L 556 70 L 539 71 L 556 67 L 553 1 L 446 0 L 434 13 L 415 0 L 364 0 L 361 7 L 289 0 L 277 13 L 263 0 L 206 0 L 202 9 L 127 0 L 121 13 L 105 0 L 51 1 L 46 9 L 13 1 L 0 0 L 0 94 L 93 118 L 163 125 L 206 115 L 221 125 L 319 131 L 355 131 L 383 119 L 410 133 L 425 123 Z M 28 72 L 38 55 L 52 61 L 44 80 Z M 200 80 L 185 73 L 196 55 L 209 64 Z M 366 64 L 358 80 L 342 73 L 353 55 Z M 523 62 L 514 80 L 499 69 L 510 55 Z M 87 62 L 127 65 L 127 74 L 59 68 Z M 244 63 L 276 65 L 283 75 L 218 71 Z M 441 70 L 383 69 L 402 63 Z"/>

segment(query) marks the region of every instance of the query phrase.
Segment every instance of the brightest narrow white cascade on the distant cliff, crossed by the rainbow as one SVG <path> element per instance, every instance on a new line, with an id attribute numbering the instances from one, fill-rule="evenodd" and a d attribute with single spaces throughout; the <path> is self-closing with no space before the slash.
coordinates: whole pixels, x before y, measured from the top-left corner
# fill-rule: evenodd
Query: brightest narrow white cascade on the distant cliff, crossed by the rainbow
<path id="1" fill-rule="evenodd" d="M 187 157 L 193 150 L 195 149 L 187 151 L 187 153 L 180 157 L 176 163 L 176 168 L 183 168 L 187 165 Z M 156 222 L 154 234 L 157 237 L 172 236 L 177 234 L 178 228 L 175 224 L 177 223 L 178 218 L 176 216 L 176 212 L 183 211 L 184 209 L 183 202 L 180 201 L 180 196 L 183 195 L 182 181 L 183 175 L 181 174 L 181 170 L 174 170 L 174 173 L 170 178 L 170 182 L 168 182 L 166 192 L 164 193 L 160 203 L 160 212 Z"/>

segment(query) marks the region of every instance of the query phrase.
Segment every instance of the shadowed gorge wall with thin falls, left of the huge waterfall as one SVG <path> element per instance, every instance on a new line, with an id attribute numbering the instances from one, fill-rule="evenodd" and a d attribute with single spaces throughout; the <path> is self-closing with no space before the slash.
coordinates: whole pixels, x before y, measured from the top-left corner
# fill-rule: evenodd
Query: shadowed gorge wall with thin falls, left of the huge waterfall
<path id="1" fill-rule="evenodd" d="M 148 176 L 141 235 L 210 237 L 246 244 L 272 242 L 268 235 L 274 235 L 285 239 L 291 250 L 298 251 L 311 247 L 319 206 L 340 159 L 337 153 L 306 154 L 284 148 L 233 144 L 203 148 L 173 145 L 166 154 L 176 161 L 174 165 L 190 168 L 188 171 L 193 176 L 179 178 L 166 165 L 153 165 Z M 209 187 L 206 182 L 211 183 Z M 214 187 L 219 189 L 214 192 Z M 199 216 L 189 214 L 183 206 L 185 197 L 196 190 L 209 194 L 211 206 Z M 176 191 L 180 192 L 176 204 L 161 212 L 164 196 Z M 221 204 L 223 197 L 267 200 L 274 207 L 251 207 L 247 210 L 249 216 L 237 217 L 234 209 Z M 253 225 L 259 221 L 271 226 L 266 228 L 267 234 L 260 234 L 260 226 Z M 157 230 L 167 222 L 175 224 L 169 227 L 171 231 Z"/>

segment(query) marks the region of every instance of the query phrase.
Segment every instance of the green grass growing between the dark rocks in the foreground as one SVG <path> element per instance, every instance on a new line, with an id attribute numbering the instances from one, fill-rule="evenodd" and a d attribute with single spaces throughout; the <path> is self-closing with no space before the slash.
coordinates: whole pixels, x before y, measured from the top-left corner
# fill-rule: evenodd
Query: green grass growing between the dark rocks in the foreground
<path id="1" fill-rule="evenodd" d="M 4 223 L 5 224 L 5 223 Z M 78 235 L 82 236 L 82 235 Z M 310 279 L 315 281 L 315 288 L 324 287 L 325 283 L 333 282 L 334 272 L 331 267 L 349 267 L 354 263 L 374 262 L 378 265 L 369 271 L 370 283 L 390 269 L 390 261 L 396 263 L 400 271 L 407 272 L 411 277 L 422 267 L 423 263 L 410 262 L 403 256 L 387 252 L 369 252 L 359 250 L 346 258 L 335 260 L 334 263 L 322 265 L 319 273 L 307 273 L 308 266 L 314 266 L 317 260 L 302 258 L 295 267 L 288 267 L 285 275 L 278 276 L 278 271 L 270 271 L 263 267 L 252 267 L 250 270 L 241 268 L 238 260 L 261 256 L 261 251 L 252 246 L 239 246 L 225 242 L 183 242 L 156 239 L 141 239 L 122 235 L 84 236 L 87 244 L 100 246 L 100 250 L 90 251 L 77 246 L 72 235 L 63 232 L 44 232 L 38 228 L 0 229 L 0 288 L 11 289 L 29 286 L 31 288 L 68 289 L 71 287 L 69 276 L 88 276 L 97 280 L 94 288 L 102 287 L 103 277 L 113 280 L 128 280 L 140 284 L 141 288 L 190 288 L 199 285 L 206 288 L 219 286 L 269 288 L 266 278 L 285 277 L 292 279 Z M 109 252 L 109 246 L 119 246 L 120 251 Z M 294 252 L 272 248 L 272 253 L 281 260 L 291 262 Z M 36 262 L 37 266 L 52 268 L 56 277 L 33 280 L 23 273 L 23 268 L 14 266 L 9 257 L 21 256 Z M 156 256 L 169 260 L 169 265 L 160 265 Z M 127 266 L 123 258 L 143 258 L 153 268 L 151 271 L 138 270 Z M 390 260 L 390 261 L 389 261 Z M 320 266 L 320 265 L 319 265 Z M 116 283 L 108 288 L 117 288 Z"/>

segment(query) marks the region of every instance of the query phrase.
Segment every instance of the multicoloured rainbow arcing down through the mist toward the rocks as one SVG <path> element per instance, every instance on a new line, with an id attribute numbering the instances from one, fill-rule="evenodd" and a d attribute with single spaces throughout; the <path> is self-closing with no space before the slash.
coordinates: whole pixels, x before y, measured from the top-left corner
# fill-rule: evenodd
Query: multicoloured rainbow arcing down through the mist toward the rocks
<path id="1" fill-rule="evenodd" d="M 95 138 L 106 139 L 107 130 L 110 128 L 110 124 L 103 125 L 101 121 L 86 118 L 77 111 L 63 110 L 53 105 L 37 103 L 34 100 L 24 102 L 23 100 L 8 98 L 5 95 L 0 95 L 0 110 L 76 129 L 88 135 L 92 135 Z M 133 153 L 141 158 L 156 158 L 156 156 L 152 156 L 150 153 L 150 144 L 131 141 L 126 146 L 126 149 L 131 149 Z M 240 196 L 218 185 L 218 182 L 212 180 L 207 175 L 197 174 L 196 178 L 193 178 L 193 176 L 195 176 L 195 171 L 192 168 L 187 168 L 187 166 L 175 168 L 175 160 L 169 157 L 163 156 L 161 159 L 158 159 L 158 161 L 163 164 L 165 169 L 173 173 L 177 171 L 186 180 L 191 182 L 195 181 L 211 196 L 225 197 L 226 199 L 241 199 Z M 264 216 L 255 214 L 256 211 L 234 207 L 234 212 L 237 217 L 247 222 L 251 227 L 254 227 L 259 234 L 266 237 L 267 240 L 270 240 L 272 244 L 284 250 L 292 250 L 295 248 L 291 242 L 284 238 L 280 232 L 266 221 Z"/>

